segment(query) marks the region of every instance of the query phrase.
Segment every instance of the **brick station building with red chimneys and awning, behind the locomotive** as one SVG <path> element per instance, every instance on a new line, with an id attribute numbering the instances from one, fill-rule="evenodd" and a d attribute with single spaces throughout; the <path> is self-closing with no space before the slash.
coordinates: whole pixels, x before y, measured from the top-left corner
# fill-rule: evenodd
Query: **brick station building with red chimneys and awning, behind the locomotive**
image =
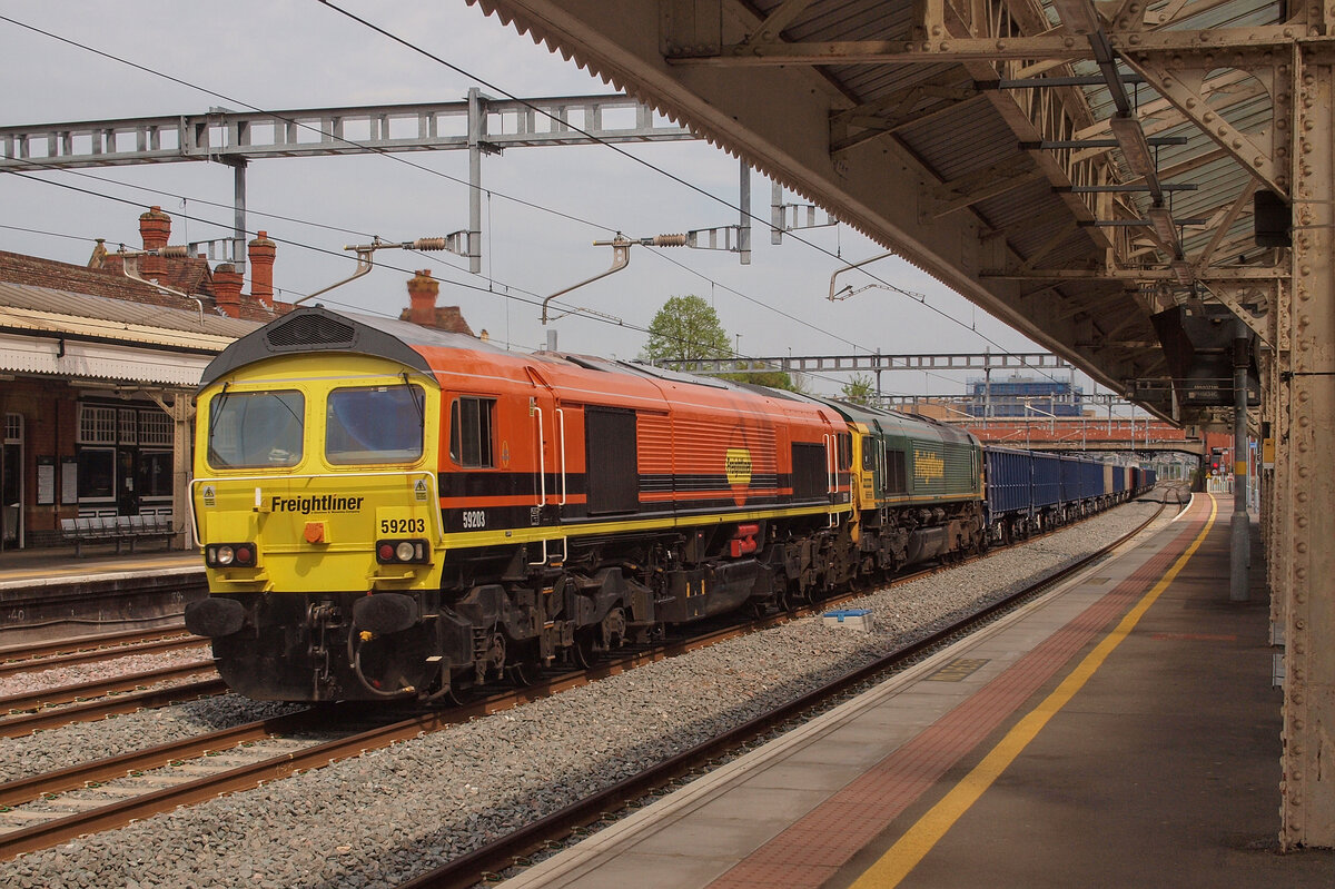
<path id="1" fill-rule="evenodd" d="M 152 207 L 139 228 L 160 250 L 171 218 Z M 234 266 L 203 256 L 143 256 L 155 287 L 101 242 L 87 266 L 0 251 L 0 551 L 59 546 L 61 519 L 115 515 L 171 517 L 174 545 L 188 545 L 195 390 L 215 355 L 291 308 L 274 299 L 275 254 L 263 231 L 250 242 L 243 292 Z M 403 319 L 471 335 L 438 288 L 418 272 Z"/>

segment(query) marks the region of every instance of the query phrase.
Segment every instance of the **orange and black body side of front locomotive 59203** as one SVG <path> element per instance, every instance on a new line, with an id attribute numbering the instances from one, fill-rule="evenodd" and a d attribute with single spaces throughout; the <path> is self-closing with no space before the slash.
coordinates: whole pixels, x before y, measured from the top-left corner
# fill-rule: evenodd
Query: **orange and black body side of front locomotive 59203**
<path id="1" fill-rule="evenodd" d="M 846 426 L 821 404 L 597 359 L 419 351 L 446 404 L 481 399 L 491 411 L 490 454 L 474 461 L 483 465 L 466 466 L 450 443 L 451 411 L 442 410 L 441 506 L 449 531 L 470 530 L 461 518 L 466 510 L 485 511 L 474 523 L 495 530 L 666 515 L 718 521 L 786 507 L 794 497 L 849 501 L 838 447 Z M 820 490 L 808 483 L 794 494 L 794 444 L 820 450 L 829 479 Z M 598 475 L 613 467 L 631 483 L 621 478 L 606 502 L 590 503 L 591 493 L 599 499 Z"/>

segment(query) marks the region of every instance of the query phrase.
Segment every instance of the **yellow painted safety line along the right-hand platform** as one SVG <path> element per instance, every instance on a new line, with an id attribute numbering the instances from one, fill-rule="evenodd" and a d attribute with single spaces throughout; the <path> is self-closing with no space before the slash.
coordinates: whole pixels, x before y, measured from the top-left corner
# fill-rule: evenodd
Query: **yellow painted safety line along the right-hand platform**
<path id="1" fill-rule="evenodd" d="M 1089 677 L 1103 666 L 1103 662 L 1112 654 L 1113 649 L 1121 645 L 1131 631 L 1144 617 L 1149 606 L 1155 603 L 1159 595 L 1168 589 L 1168 585 L 1173 582 L 1173 578 L 1187 566 L 1191 557 L 1196 554 L 1200 549 L 1202 542 L 1206 535 L 1210 534 L 1210 529 L 1215 523 L 1215 515 L 1219 511 L 1219 505 L 1214 497 L 1210 497 L 1210 518 L 1206 521 L 1206 527 L 1202 529 L 1196 539 L 1191 542 L 1187 551 L 1183 553 L 1173 566 L 1168 569 L 1168 573 L 1155 583 L 1145 595 L 1136 602 L 1135 607 L 1127 613 L 1121 622 L 1117 623 L 1103 641 L 1085 655 L 1084 661 L 1080 662 L 1071 675 L 1068 675 L 1057 689 L 1049 694 L 1043 703 L 1031 710 L 1020 722 L 1015 725 L 1011 731 L 1001 738 L 1000 744 L 984 757 L 975 769 L 964 777 L 960 784 L 957 784 L 945 797 L 937 802 L 932 809 L 922 816 L 917 824 L 914 824 L 909 830 L 900 837 L 900 840 L 890 846 L 890 849 L 881 856 L 876 864 L 873 864 L 866 873 L 857 878 L 852 889 L 890 889 L 892 886 L 900 885 L 904 877 L 909 876 L 909 872 L 917 866 L 920 861 L 926 856 L 932 848 L 940 842 L 941 837 L 955 825 L 960 817 L 964 816 L 969 808 L 979 801 L 979 797 L 987 792 L 988 788 L 1001 776 L 1003 772 L 1019 757 L 1024 749 L 1033 741 L 1039 731 L 1048 723 L 1048 719 L 1055 717 L 1057 711 L 1064 707 L 1076 693 L 1084 687 Z"/>

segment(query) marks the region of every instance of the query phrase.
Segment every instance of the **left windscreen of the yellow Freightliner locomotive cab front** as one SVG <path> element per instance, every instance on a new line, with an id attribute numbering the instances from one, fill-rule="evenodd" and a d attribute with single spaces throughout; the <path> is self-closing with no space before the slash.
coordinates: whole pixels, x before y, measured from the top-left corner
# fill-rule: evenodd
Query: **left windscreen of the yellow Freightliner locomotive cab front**
<path id="1" fill-rule="evenodd" d="M 295 391 L 228 392 L 208 404 L 208 465 L 263 469 L 302 462 L 306 398 Z"/>

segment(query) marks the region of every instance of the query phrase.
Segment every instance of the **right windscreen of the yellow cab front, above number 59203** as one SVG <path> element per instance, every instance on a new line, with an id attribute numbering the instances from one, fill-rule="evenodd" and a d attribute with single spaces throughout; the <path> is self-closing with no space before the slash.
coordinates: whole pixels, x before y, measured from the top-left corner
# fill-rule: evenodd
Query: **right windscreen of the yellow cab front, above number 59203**
<path id="1" fill-rule="evenodd" d="M 362 386 L 330 392 L 324 457 L 330 463 L 413 463 L 422 457 L 421 386 Z"/>

